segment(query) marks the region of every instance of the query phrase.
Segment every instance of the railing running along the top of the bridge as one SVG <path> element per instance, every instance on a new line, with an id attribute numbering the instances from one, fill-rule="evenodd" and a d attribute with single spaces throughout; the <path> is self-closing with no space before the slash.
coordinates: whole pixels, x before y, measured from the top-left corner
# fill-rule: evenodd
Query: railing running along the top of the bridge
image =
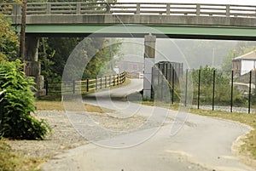
<path id="1" fill-rule="evenodd" d="M 21 4 L 0 4 L 5 14 L 20 14 Z M 156 14 L 256 17 L 256 6 L 207 3 L 27 3 L 33 14 Z"/>

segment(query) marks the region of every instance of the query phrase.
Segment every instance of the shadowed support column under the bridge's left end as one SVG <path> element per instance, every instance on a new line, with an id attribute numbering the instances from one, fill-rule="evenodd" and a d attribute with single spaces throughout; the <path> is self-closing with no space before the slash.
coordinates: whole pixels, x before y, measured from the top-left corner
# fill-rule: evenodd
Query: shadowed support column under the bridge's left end
<path id="1" fill-rule="evenodd" d="M 38 37 L 26 37 L 26 76 L 35 77 L 36 83 L 36 96 L 42 96 L 46 94 L 44 89 L 44 76 L 40 75 L 41 66 L 38 62 Z"/>

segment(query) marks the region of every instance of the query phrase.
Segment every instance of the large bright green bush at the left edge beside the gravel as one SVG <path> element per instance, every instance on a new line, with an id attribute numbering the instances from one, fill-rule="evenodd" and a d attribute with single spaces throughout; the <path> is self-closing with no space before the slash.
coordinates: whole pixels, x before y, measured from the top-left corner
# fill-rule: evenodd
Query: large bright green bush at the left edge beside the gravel
<path id="1" fill-rule="evenodd" d="M 0 133 L 13 139 L 42 140 L 51 128 L 44 120 L 32 117 L 33 79 L 21 70 L 20 60 L 0 64 L 0 91 L 5 91 Z"/>

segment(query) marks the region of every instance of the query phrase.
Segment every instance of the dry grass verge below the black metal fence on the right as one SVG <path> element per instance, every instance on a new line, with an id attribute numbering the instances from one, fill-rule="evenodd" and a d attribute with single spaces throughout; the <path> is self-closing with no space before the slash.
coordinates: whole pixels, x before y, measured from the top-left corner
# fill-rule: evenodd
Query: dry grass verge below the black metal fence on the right
<path id="1" fill-rule="evenodd" d="M 143 105 L 154 105 L 154 101 L 143 101 Z M 178 105 L 168 105 L 168 104 L 160 104 L 162 107 L 169 108 L 170 110 L 177 111 Z M 247 137 L 243 140 L 244 145 L 241 145 L 241 154 L 252 157 L 256 160 L 256 113 L 254 114 L 247 114 L 247 113 L 241 113 L 241 112 L 229 112 L 229 111 L 211 111 L 211 110 L 202 110 L 202 109 L 195 109 L 191 108 L 190 113 L 201 115 L 201 116 L 207 116 L 207 117 L 218 117 L 223 119 L 228 119 L 231 121 L 236 121 L 239 123 L 244 123 L 252 128 L 252 130 L 249 134 L 247 134 Z M 248 154 L 249 153 L 249 154 Z"/>

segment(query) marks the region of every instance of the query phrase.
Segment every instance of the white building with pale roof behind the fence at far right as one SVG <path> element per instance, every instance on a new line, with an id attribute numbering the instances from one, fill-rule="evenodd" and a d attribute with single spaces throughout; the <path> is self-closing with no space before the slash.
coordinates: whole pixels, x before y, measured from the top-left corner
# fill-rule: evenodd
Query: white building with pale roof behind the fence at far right
<path id="1" fill-rule="evenodd" d="M 256 70 L 256 50 L 236 57 L 232 60 L 232 64 L 236 77 L 240 77 L 249 71 Z"/>

